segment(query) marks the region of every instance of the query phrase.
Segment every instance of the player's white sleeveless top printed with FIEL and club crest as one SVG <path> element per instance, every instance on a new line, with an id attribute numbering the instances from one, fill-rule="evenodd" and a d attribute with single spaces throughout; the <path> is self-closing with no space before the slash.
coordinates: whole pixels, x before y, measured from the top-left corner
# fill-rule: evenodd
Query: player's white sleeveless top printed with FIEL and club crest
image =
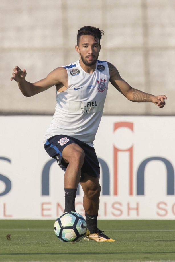
<path id="1" fill-rule="evenodd" d="M 79 61 L 64 66 L 68 88 L 56 92 L 53 120 L 46 130 L 44 143 L 54 135 L 68 135 L 93 147 L 99 127 L 109 82 L 106 61 L 97 60 L 93 73 L 86 73 Z"/>

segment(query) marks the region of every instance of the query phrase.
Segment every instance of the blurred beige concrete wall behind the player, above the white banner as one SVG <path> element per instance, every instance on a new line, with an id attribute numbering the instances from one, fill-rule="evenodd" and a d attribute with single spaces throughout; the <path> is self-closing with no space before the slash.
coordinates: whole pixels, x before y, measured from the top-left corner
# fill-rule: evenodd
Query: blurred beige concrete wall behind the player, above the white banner
<path id="1" fill-rule="evenodd" d="M 16 65 L 35 82 L 78 59 L 76 33 L 85 25 L 105 31 L 100 60 L 113 63 L 134 88 L 166 94 L 164 109 L 133 103 L 110 85 L 104 114 L 174 115 L 174 0 L 30 0 L 1 2 L 0 114 L 53 114 L 55 87 L 24 97 L 10 81 Z"/>

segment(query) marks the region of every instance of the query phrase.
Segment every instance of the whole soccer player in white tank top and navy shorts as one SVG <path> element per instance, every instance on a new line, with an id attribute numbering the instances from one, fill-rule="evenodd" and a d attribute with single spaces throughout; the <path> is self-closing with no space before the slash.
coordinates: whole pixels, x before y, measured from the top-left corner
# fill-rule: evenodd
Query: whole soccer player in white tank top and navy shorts
<path id="1" fill-rule="evenodd" d="M 33 96 L 56 86 L 53 120 L 44 137 L 44 147 L 65 171 L 65 209 L 75 211 L 78 183 L 84 191 L 83 206 L 87 223 L 86 239 L 115 241 L 97 227 L 99 210 L 99 162 L 93 141 L 101 121 L 109 81 L 128 100 L 152 102 L 163 108 L 165 95 L 154 96 L 132 88 L 114 65 L 98 60 L 103 30 L 84 26 L 78 30 L 76 52 L 79 60 L 54 69 L 38 82 L 25 80 L 26 70 L 13 69 L 11 80 L 18 82 L 24 96 Z M 89 232 L 90 231 L 90 232 Z"/>

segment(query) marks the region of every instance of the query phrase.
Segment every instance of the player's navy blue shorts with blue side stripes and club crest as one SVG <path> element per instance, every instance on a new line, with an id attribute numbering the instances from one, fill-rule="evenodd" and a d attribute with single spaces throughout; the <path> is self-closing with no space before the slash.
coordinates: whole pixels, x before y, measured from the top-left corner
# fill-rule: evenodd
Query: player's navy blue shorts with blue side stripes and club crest
<path id="1" fill-rule="evenodd" d="M 55 158 L 60 168 L 65 171 L 68 164 L 62 158 L 62 150 L 69 144 L 77 144 L 84 150 L 85 156 L 84 164 L 81 168 L 81 180 L 84 178 L 84 173 L 87 173 L 89 176 L 98 177 L 100 167 L 95 149 L 86 143 L 67 135 L 55 135 L 46 141 L 44 148 L 49 156 Z"/>

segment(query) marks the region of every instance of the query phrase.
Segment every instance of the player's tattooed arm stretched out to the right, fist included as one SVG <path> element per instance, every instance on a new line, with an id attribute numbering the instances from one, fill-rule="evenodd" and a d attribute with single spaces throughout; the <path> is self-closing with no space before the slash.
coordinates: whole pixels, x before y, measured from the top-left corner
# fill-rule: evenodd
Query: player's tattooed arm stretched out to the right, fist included
<path id="1" fill-rule="evenodd" d="M 133 102 L 152 102 L 160 108 L 165 106 L 165 99 L 167 99 L 165 95 L 154 96 L 131 87 L 121 78 L 119 71 L 114 65 L 109 62 L 107 62 L 107 64 L 110 73 L 109 81 L 128 100 Z"/>

